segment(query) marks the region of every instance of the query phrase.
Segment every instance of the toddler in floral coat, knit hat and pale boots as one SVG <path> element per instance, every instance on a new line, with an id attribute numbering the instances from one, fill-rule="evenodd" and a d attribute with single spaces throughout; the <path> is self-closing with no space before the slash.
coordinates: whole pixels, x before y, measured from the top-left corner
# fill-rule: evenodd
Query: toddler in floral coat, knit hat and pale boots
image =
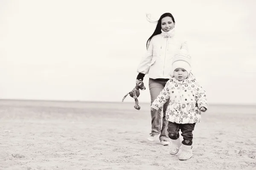
<path id="1" fill-rule="evenodd" d="M 196 81 L 194 75 L 190 73 L 190 57 L 178 55 L 173 59 L 172 79 L 170 79 L 164 89 L 151 105 L 151 110 L 162 109 L 169 100 L 166 110 L 166 120 L 168 120 L 168 133 L 171 140 L 170 154 L 178 153 L 180 146 L 181 153 L 179 160 L 187 160 L 192 157 L 192 139 L 195 124 L 201 121 L 201 112 L 207 111 L 207 96 L 201 85 Z M 183 141 L 180 140 L 179 131 Z"/>

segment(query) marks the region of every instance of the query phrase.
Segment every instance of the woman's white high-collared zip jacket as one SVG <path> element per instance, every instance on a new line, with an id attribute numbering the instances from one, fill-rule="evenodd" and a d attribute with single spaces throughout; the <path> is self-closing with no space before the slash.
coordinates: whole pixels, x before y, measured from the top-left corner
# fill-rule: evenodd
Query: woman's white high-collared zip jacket
<path id="1" fill-rule="evenodd" d="M 167 33 L 162 31 L 152 37 L 137 72 L 148 74 L 151 79 L 171 79 L 172 59 L 180 53 L 189 55 L 187 42 L 175 35 L 175 28 Z"/>

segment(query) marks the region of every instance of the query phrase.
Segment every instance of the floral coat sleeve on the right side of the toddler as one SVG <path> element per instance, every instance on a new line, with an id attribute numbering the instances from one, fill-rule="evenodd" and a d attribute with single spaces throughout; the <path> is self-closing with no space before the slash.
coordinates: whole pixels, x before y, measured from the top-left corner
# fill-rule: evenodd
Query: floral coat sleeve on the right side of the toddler
<path id="1" fill-rule="evenodd" d="M 195 94 L 195 99 L 198 103 L 198 109 L 201 107 L 208 109 L 208 102 L 207 102 L 207 96 L 206 96 L 206 91 L 202 88 L 199 83 L 196 83 L 196 94 Z"/>

